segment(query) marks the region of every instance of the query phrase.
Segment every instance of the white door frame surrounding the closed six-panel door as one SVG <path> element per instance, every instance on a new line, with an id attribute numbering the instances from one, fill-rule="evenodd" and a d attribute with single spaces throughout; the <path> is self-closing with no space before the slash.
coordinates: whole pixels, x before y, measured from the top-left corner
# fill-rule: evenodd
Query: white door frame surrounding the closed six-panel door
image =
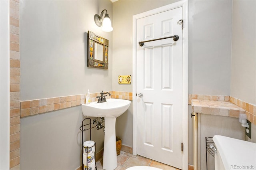
<path id="1" fill-rule="evenodd" d="M 182 7 L 182 169 L 188 169 L 188 0 L 181 0 L 133 16 L 132 25 L 132 153 L 137 155 L 137 20 Z"/>

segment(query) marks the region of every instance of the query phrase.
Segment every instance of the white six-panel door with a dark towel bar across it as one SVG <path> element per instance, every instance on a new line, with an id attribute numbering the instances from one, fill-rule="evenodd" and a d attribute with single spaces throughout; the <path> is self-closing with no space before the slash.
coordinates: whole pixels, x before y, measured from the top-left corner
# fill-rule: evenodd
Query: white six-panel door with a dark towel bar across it
<path id="1" fill-rule="evenodd" d="M 182 7 L 137 20 L 137 153 L 182 168 Z"/>

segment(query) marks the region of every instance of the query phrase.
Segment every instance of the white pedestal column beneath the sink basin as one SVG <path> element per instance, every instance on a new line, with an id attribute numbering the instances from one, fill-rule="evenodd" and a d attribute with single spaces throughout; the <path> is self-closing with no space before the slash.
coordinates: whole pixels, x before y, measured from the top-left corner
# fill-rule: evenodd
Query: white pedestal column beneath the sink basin
<path id="1" fill-rule="evenodd" d="M 116 118 L 105 117 L 105 136 L 102 168 L 104 170 L 114 170 L 116 169 L 116 167 Z"/>

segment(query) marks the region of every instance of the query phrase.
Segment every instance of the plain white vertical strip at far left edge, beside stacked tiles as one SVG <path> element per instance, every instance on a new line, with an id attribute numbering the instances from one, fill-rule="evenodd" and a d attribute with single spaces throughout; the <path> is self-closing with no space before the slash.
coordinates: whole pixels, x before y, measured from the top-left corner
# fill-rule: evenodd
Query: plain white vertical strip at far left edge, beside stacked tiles
<path id="1" fill-rule="evenodd" d="M 10 169 L 10 1 L 0 0 L 0 169 Z"/>

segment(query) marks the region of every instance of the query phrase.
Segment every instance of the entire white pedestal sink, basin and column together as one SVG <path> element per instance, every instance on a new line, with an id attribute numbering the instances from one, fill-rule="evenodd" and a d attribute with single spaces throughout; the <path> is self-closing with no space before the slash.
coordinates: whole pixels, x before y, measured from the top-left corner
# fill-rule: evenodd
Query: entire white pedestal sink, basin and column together
<path id="1" fill-rule="evenodd" d="M 117 167 L 116 157 L 116 118 L 122 115 L 130 106 L 131 101 L 122 99 L 107 99 L 104 103 L 92 102 L 82 104 L 84 116 L 105 118 L 105 137 L 103 169 L 114 170 Z"/>

